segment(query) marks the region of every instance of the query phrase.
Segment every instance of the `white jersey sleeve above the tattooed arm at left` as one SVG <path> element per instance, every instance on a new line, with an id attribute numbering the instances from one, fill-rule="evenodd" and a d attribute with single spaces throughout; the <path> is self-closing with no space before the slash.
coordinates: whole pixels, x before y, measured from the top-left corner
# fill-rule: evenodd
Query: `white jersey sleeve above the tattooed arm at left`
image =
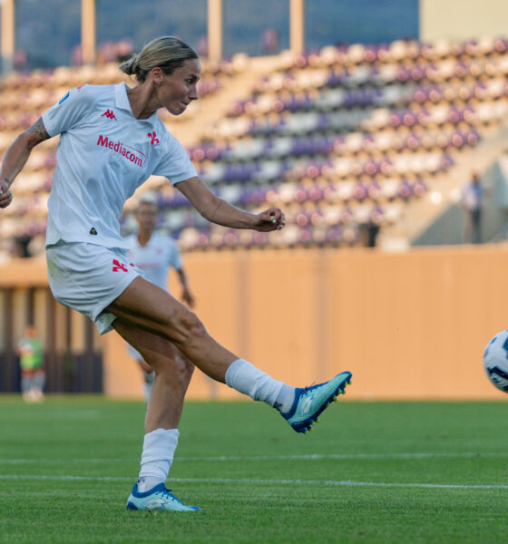
<path id="1" fill-rule="evenodd" d="M 56 134 L 72 129 L 90 112 L 94 99 L 95 93 L 90 85 L 71 89 L 43 113 L 46 132 L 53 137 Z"/>

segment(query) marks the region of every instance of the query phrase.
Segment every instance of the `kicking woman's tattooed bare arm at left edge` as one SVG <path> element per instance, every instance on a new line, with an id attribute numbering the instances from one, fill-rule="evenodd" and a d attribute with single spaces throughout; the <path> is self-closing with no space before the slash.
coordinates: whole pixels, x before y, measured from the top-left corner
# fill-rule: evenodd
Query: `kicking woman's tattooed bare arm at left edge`
<path id="1" fill-rule="evenodd" d="M 6 208 L 13 201 L 13 193 L 9 189 L 15 177 L 23 170 L 34 147 L 48 138 L 50 136 L 44 127 L 43 118 L 40 117 L 11 143 L 5 152 L 0 170 L 0 208 Z"/>

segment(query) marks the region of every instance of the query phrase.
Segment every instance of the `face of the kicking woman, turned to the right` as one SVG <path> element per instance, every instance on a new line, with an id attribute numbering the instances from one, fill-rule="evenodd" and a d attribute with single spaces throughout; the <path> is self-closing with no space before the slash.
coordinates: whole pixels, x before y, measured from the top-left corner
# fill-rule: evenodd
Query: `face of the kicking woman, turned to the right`
<path id="1" fill-rule="evenodd" d="M 159 100 L 172 115 L 185 112 L 193 100 L 198 100 L 197 85 L 200 81 L 201 67 L 198 59 L 187 59 L 173 73 L 162 75 L 159 87 Z"/>

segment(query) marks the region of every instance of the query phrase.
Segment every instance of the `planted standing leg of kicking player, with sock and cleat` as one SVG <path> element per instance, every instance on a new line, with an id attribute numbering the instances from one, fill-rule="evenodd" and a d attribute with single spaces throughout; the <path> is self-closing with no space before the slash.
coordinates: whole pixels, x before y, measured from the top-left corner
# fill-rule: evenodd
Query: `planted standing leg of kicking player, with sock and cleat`
<path id="1" fill-rule="evenodd" d="M 178 444 L 181 410 L 194 365 L 161 336 L 116 319 L 114 328 L 142 355 L 155 379 L 145 419 L 141 471 L 127 501 L 130 510 L 197 510 L 165 488 Z M 150 363 L 150 364 L 148 364 Z"/>

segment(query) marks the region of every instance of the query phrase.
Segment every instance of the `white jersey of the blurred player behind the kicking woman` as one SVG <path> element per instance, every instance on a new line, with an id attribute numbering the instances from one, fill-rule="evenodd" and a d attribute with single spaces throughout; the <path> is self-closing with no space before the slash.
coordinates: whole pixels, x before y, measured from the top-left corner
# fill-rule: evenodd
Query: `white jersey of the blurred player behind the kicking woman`
<path id="1" fill-rule="evenodd" d="M 181 270 L 180 250 L 173 238 L 153 232 L 146 246 L 140 246 L 136 233 L 124 239 L 132 263 L 148 281 L 167 291 L 170 267 Z"/>

